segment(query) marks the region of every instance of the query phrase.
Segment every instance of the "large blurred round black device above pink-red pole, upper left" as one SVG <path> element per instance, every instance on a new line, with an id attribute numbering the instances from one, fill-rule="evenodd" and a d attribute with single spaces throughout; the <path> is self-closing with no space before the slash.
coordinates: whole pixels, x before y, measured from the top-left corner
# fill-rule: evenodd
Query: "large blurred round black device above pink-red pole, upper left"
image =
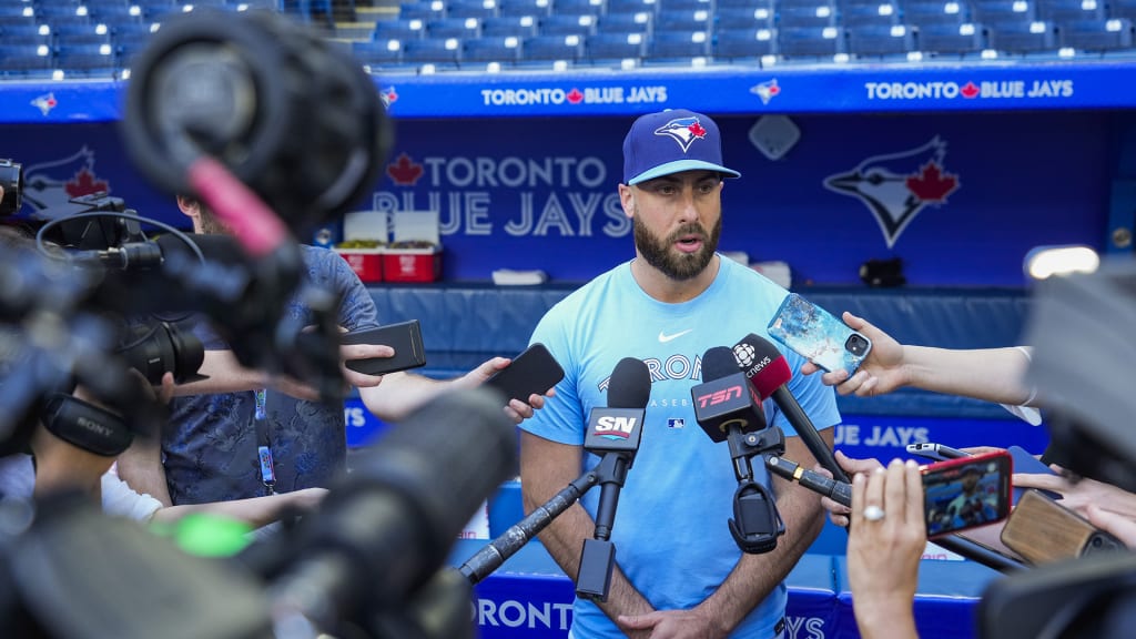
<path id="1" fill-rule="evenodd" d="M 217 206 L 201 160 L 247 184 L 295 236 L 343 215 L 378 180 L 392 140 L 371 78 L 346 52 L 275 11 L 164 19 L 135 57 L 122 132 L 157 186 Z"/>

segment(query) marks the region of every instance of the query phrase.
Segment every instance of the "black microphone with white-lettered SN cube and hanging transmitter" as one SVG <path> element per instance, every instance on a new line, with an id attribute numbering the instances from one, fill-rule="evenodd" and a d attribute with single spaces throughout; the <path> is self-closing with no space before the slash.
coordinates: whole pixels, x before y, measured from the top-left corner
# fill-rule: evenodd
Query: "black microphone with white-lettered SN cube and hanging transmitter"
<path id="1" fill-rule="evenodd" d="M 635 460 L 643 438 L 643 416 L 651 398 L 651 372 L 646 364 L 625 357 L 616 364 L 608 382 L 608 407 L 593 408 L 587 421 L 584 450 L 602 455 L 593 468 L 600 484 L 600 504 L 595 509 L 595 533 L 584 540 L 576 574 L 576 595 L 594 601 L 607 601 L 611 589 L 611 571 L 616 566 L 616 546 L 609 541 L 616 520 L 619 490 L 627 470 Z"/>

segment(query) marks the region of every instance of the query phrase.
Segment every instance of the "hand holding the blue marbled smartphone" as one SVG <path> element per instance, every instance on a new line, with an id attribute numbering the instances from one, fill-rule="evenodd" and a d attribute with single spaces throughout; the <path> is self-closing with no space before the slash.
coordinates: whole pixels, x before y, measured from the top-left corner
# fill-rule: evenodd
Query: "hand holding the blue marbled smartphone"
<path id="1" fill-rule="evenodd" d="M 895 341 L 875 324 L 862 317 L 857 317 L 847 310 L 842 315 L 844 323 L 853 331 L 862 333 L 871 340 L 871 351 L 860 364 L 860 368 L 851 377 L 847 371 L 829 371 L 820 376 L 827 385 L 836 387 L 841 395 L 855 393 L 860 397 L 886 395 L 909 383 L 909 374 L 903 363 L 903 345 Z M 821 368 L 807 363 L 801 372 L 811 375 Z"/>

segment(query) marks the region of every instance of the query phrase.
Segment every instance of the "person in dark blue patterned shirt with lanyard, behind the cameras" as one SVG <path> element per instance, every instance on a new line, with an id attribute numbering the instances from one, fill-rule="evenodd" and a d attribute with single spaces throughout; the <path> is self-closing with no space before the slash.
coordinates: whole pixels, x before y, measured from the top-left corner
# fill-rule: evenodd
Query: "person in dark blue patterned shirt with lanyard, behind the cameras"
<path id="1" fill-rule="evenodd" d="M 178 197 L 178 208 L 195 233 L 229 233 L 202 202 Z M 357 331 L 378 325 L 374 299 L 334 251 L 302 246 L 308 279 L 340 297 L 337 324 Z M 293 299 L 287 312 L 310 325 L 310 309 Z M 203 326 L 202 326 L 203 327 Z M 157 446 L 140 446 L 119 463 L 119 474 L 137 490 L 167 497 L 170 504 L 251 498 L 324 487 L 346 464 L 343 403 L 321 403 L 295 380 L 266 379 L 241 366 L 227 345 L 202 335 L 209 379 L 176 389 L 172 423 Z M 383 420 L 398 421 L 448 388 L 473 388 L 510 364 L 492 358 L 465 376 L 438 382 L 410 373 L 383 376 L 348 371 L 344 359 L 392 357 L 385 345 L 342 346 L 341 371 L 359 389 L 366 407 Z M 549 391 L 551 393 L 551 389 Z M 193 393 L 193 395 L 184 395 Z M 184 395 L 184 396 L 183 396 Z M 511 400 L 506 413 L 520 422 L 543 406 Z M 460 428 L 460 425 L 456 425 Z M 168 491 L 167 491 L 168 486 Z"/>

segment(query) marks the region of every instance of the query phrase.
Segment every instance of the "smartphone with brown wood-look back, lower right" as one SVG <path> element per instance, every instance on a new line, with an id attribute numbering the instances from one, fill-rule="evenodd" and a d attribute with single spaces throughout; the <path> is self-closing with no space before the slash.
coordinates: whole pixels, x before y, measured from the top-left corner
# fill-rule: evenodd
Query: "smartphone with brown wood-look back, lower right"
<path id="1" fill-rule="evenodd" d="M 1002 543 L 1033 564 L 1047 564 L 1125 545 L 1038 490 L 1022 493 L 1005 525 Z"/>

